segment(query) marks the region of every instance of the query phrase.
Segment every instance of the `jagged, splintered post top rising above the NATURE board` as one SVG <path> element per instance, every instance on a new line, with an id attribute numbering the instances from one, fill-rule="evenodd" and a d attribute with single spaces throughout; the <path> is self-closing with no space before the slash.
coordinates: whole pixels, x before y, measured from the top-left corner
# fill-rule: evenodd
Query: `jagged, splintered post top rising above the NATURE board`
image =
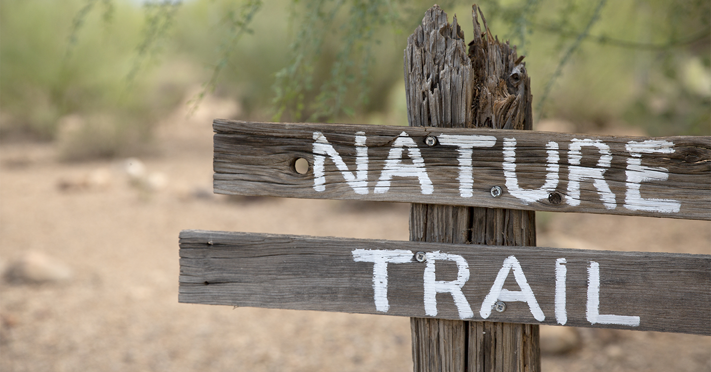
<path id="1" fill-rule="evenodd" d="M 499 43 L 479 25 L 467 48 L 456 16 L 435 5 L 407 39 L 405 96 L 410 124 L 425 127 L 531 129 L 530 78 L 516 46 Z M 481 14 L 481 11 L 479 11 Z"/>

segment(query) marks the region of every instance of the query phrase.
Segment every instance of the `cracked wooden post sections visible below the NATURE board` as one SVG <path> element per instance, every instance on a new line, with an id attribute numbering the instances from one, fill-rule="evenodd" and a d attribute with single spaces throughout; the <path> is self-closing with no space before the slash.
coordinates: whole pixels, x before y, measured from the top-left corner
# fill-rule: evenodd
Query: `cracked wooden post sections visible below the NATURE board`
<path id="1" fill-rule="evenodd" d="M 532 246 L 535 213 L 413 204 L 410 240 Z M 415 371 L 540 371 L 538 324 L 432 318 L 412 318 L 410 324 Z"/>

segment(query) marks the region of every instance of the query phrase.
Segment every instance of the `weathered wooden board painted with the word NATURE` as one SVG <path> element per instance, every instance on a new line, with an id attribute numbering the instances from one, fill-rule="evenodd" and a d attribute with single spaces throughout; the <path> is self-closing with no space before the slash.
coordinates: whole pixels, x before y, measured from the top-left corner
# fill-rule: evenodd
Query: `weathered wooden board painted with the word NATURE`
<path id="1" fill-rule="evenodd" d="M 223 119 L 213 128 L 216 193 L 711 220 L 711 137 Z"/>

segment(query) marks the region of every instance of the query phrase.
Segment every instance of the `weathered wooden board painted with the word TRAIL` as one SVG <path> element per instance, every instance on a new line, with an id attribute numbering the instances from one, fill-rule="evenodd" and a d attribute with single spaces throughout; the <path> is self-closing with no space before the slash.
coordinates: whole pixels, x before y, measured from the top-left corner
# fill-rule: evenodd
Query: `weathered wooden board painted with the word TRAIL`
<path id="1" fill-rule="evenodd" d="M 183 230 L 180 302 L 711 335 L 711 255 Z"/>

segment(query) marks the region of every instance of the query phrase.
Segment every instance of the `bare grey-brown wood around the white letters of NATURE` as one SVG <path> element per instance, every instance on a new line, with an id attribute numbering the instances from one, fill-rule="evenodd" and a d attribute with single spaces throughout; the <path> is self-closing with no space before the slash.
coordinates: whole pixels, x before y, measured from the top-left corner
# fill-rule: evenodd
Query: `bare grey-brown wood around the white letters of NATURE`
<path id="1" fill-rule="evenodd" d="M 432 127 L 388 127 L 351 124 L 290 124 L 240 122 L 215 119 L 214 188 L 217 193 L 283 196 L 290 198 L 360 199 L 405 203 L 437 203 L 490 208 L 514 208 L 528 211 L 609 213 L 631 216 L 711 219 L 711 137 L 657 137 L 653 140 L 672 142 L 670 154 L 641 154 L 641 166 L 668 171 L 666 180 L 645 180 L 628 184 L 628 142 L 650 140 L 644 137 L 617 137 L 556 132 L 532 132 L 506 129 L 454 129 Z M 368 147 L 368 193 L 358 194 L 344 179 L 329 156 L 324 156 L 324 191 L 314 189 L 314 132 L 321 132 L 340 154 L 348 170 L 356 176 L 355 134 L 364 132 Z M 390 189 L 375 193 L 385 160 L 395 139 L 405 132 L 415 140 L 434 191 L 425 195 L 417 177 L 392 177 Z M 438 144 L 428 147 L 427 136 L 481 135 L 496 139 L 493 147 L 473 149 L 472 196 L 462 197 L 459 191 L 459 152 L 456 146 Z M 561 201 L 542 198 L 526 203 L 513 196 L 506 186 L 503 173 L 503 141 L 513 138 L 515 174 L 520 188 L 540 188 L 547 174 L 547 142 L 556 142 L 560 154 L 560 181 L 555 193 Z M 615 208 L 607 208 L 591 179 L 579 184 L 580 202 L 572 206 L 567 200 L 570 175 L 570 144 L 574 139 L 600 141 L 609 146 L 611 164 L 604 169 L 604 180 L 614 193 Z M 582 147 L 581 166 L 598 168 L 601 158 L 597 147 Z M 403 152 L 403 163 L 412 164 Z M 309 161 L 309 171 L 298 174 L 296 159 Z M 626 192 L 630 184 L 640 185 L 640 195 L 646 199 L 670 199 L 680 203 L 678 213 L 638 211 L 626 207 Z M 503 195 L 491 196 L 492 186 L 501 186 Z"/>

